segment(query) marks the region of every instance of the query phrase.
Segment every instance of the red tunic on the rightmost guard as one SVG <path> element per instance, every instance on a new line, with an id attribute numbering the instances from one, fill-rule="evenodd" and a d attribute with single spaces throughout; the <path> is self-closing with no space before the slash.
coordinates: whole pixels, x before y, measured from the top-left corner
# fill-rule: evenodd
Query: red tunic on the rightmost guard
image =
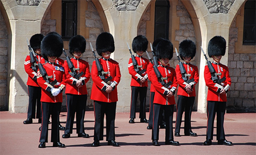
<path id="1" fill-rule="evenodd" d="M 230 86 L 231 79 L 229 76 L 228 67 L 222 64 L 217 65 L 216 63 L 212 63 L 212 66 L 215 69 L 216 73 L 221 73 L 221 76 L 218 76 L 219 78 L 226 77 L 226 80 L 222 82 L 222 86 Z M 218 87 L 216 86 L 216 83 L 212 81 L 212 76 L 210 75 L 210 71 L 207 65 L 204 68 L 204 80 L 205 84 L 208 86 L 207 100 L 226 102 L 226 94 L 220 94 L 217 92 Z"/>

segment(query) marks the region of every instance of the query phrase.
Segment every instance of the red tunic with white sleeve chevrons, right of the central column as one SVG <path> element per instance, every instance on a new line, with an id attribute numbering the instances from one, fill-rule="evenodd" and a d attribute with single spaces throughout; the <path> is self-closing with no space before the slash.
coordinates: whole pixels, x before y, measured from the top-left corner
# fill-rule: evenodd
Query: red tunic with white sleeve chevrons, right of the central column
<path id="1" fill-rule="evenodd" d="M 142 66 L 142 68 L 139 68 L 139 70 L 147 70 L 147 65 L 149 63 L 149 61 L 146 59 L 146 58 L 143 58 L 143 57 L 139 57 L 139 56 L 135 56 L 135 59 L 137 60 L 137 63 L 139 66 Z M 135 87 L 147 87 L 147 81 L 141 83 L 139 81 L 137 81 L 138 78 L 148 78 L 148 74 L 147 72 L 144 72 L 142 73 L 142 76 L 139 75 L 137 72 L 135 72 L 134 70 L 134 66 L 133 66 L 133 61 L 129 60 L 129 63 L 128 63 L 128 70 L 129 70 L 129 74 L 131 74 L 131 85 L 130 86 L 135 86 Z"/>

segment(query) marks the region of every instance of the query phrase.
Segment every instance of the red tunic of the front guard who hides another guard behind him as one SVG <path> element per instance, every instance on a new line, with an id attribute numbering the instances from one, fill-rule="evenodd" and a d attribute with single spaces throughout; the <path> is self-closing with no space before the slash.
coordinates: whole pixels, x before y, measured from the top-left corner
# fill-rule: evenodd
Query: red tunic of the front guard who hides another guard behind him
<path id="1" fill-rule="evenodd" d="M 155 87 L 155 97 L 154 97 L 154 103 L 162 104 L 162 105 L 171 105 L 175 104 L 174 96 L 167 98 L 166 95 L 164 95 L 164 92 L 169 90 L 176 90 L 177 89 L 177 79 L 176 79 L 176 72 L 174 68 L 171 68 L 170 66 L 158 66 L 158 70 L 160 74 L 162 74 L 163 78 L 167 77 L 167 80 L 164 80 L 164 82 L 168 83 L 169 81 L 172 81 L 172 85 L 170 88 L 166 88 L 161 85 L 160 82 L 158 82 L 158 78 L 156 77 L 155 72 L 151 72 L 151 82 Z"/>

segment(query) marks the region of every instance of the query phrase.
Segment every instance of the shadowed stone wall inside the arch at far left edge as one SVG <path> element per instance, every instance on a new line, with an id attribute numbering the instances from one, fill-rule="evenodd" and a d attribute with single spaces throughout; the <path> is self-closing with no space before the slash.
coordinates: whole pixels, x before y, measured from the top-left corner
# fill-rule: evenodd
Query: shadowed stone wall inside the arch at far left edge
<path id="1" fill-rule="evenodd" d="M 0 111 L 8 110 L 7 65 L 8 35 L 5 20 L 0 12 Z"/>

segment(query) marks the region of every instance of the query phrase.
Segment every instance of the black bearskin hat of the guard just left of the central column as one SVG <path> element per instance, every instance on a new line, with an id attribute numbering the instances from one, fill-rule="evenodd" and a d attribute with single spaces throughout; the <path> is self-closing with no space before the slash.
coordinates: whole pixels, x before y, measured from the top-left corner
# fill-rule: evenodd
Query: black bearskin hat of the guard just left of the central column
<path id="1" fill-rule="evenodd" d="M 98 35 L 96 39 L 96 50 L 98 55 L 101 56 L 103 52 L 111 52 L 115 51 L 114 37 L 109 32 L 102 32 Z"/>

